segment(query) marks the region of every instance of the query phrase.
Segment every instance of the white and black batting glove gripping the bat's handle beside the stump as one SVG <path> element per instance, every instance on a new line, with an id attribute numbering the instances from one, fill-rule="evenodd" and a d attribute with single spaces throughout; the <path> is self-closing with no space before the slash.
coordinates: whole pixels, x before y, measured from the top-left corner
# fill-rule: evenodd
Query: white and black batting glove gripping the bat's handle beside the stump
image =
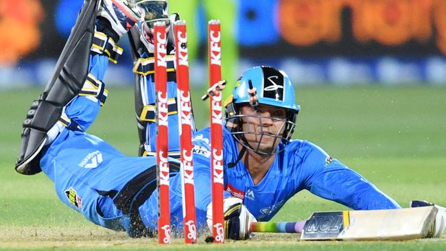
<path id="1" fill-rule="evenodd" d="M 241 199 L 234 197 L 223 200 L 225 239 L 250 238 L 250 223 L 257 220 L 242 202 Z M 207 208 L 207 226 L 212 230 L 212 204 Z"/>

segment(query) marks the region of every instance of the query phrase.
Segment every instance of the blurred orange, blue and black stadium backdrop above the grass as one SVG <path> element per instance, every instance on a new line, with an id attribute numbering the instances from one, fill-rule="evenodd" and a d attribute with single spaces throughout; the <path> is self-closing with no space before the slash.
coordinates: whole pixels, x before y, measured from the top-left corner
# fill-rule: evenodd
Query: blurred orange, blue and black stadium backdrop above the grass
<path id="1" fill-rule="evenodd" d="M 0 90 L 45 85 L 82 0 L 0 0 Z M 446 84 L 446 0 L 169 0 L 187 20 L 191 83 L 207 74 L 207 21 L 222 21 L 223 77 L 268 64 L 297 85 Z M 105 82 L 131 85 L 132 59 Z"/>

